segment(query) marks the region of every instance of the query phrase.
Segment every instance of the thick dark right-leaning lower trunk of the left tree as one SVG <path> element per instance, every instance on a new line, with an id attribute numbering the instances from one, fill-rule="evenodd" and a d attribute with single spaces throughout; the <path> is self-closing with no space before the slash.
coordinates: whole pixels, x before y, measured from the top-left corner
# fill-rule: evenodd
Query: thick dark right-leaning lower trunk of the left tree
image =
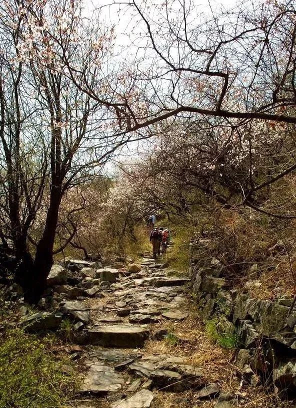
<path id="1" fill-rule="evenodd" d="M 33 268 L 25 292 L 25 300 L 28 303 L 37 303 L 46 288 L 46 278 L 53 262 L 52 252 L 60 200 L 60 188 L 52 186 L 43 234 L 37 244 Z"/>

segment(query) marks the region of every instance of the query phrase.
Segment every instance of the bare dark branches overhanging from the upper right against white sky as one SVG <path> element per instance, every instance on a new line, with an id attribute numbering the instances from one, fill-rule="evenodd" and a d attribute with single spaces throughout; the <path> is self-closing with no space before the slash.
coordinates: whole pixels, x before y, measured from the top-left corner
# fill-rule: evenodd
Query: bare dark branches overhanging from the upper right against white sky
<path id="1" fill-rule="evenodd" d="M 286 165 L 273 166 L 262 180 L 253 174 L 252 155 L 253 148 L 262 145 L 262 131 L 270 134 L 265 143 L 268 149 L 280 144 L 282 134 L 286 139 L 295 129 L 296 10 L 289 0 L 280 5 L 272 1 L 248 5 L 202 14 L 193 2 L 119 3 L 131 21 L 127 31 L 131 49 L 137 52 L 136 57 L 127 55 L 117 64 L 128 75 L 122 80 L 109 77 L 106 87 L 113 95 L 108 103 L 116 112 L 118 134 L 137 132 L 140 137 L 150 137 L 159 131 L 157 123 L 169 128 L 176 118 L 187 123 L 188 133 L 194 123 L 204 123 L 205 128 L 215 129 L 214 138 L 219 137 L 218 131 L 229 135 L 219 146 L 213 143 L 210 154 L 207 151 L 209 162 L 221 162 L 230 148 L 232 167 L 235 154 L 241 154 L 239 146 L 244 145 L 248 150 L 244 166 L 248 168 L 240 174 L 243 178 L 237 172 L 235 180 L 225 182 L 232 185 L 232 195 L 240 191 L 243 205 L 258 208 L 260 200 L 255 195 L 296 169 L 292 149 Z M 63 59 L 74 76 L 64 54 Z M 79 86 L 101 101 L 86 78 Z M 260 123 L 267 123 L 262 131 L 258 130 Z M 184 144 L 188 147 L 185 139 Z M 291 139 L 283 149 L 292 144 Z M 226 204 L 228 197 L 220 196 L 207 179 L 198 182 L 199 188 Z"/>

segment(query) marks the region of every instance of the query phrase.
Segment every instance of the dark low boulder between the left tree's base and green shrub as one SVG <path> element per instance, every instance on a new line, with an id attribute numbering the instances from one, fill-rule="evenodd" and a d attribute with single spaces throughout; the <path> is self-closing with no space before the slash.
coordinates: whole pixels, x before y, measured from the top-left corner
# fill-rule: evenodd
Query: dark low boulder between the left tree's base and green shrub
<path id="1" fill-rule="evenodd" d="M 37 332 L 40 330 L 57 329 L 61 323 L 62 314 L 59 312 L 49 313 L 47 311 L 40 311 L 24 316 L 20 320 L 21 326 L 29 332 Z"/>

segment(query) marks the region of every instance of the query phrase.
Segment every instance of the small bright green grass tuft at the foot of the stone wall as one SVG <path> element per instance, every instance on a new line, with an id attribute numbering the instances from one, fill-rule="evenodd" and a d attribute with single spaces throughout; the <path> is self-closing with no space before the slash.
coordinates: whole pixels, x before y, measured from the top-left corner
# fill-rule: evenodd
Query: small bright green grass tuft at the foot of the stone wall
<path id="1" fill-rule="evenodd" d="M 213 342 L 223 348 L 236 348 L 238 345 L 235 327 L 223 316 L 215 316 L 206 320 L 205 332 Z"/>

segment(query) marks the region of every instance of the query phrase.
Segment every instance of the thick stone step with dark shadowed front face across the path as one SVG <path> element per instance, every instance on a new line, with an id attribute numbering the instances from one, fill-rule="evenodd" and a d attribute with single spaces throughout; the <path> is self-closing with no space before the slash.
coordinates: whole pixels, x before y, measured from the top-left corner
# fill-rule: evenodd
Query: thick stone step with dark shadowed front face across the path
<path id="1" fill-rule="evenodd" d="M 103 347 L 143 347 L 149 336 L 146 328 L 128 325 L 106 325 L 88 330 L 89 344 Z"/>

